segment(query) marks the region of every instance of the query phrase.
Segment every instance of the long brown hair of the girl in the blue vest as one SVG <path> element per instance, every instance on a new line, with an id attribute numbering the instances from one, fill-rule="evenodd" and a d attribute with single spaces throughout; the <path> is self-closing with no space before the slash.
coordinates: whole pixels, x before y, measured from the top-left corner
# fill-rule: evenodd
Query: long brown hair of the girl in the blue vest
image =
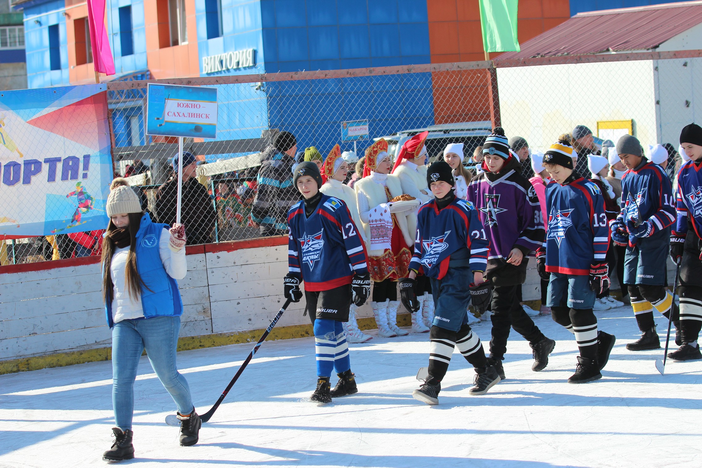
<path id="1" fill-rule="evenodd" d="M 136 233 L 139 232 L 142 215 L 143 213 L 128 213 L 128 229 L 131 243 L 129 245 L 129 253 L 127 254 L 127 264 L 124 268 L 124 283 L 127 286 L 129 297 L 131 297 L 132 300 L 141 295 L 142 286 L 146 288 L 136 268 Z M 105 300 L 105 304 L 112 302 L 112 299 L 114 299 L 112 294 L 114 283 L 112 283 L 111 270 L 112 255 L 114 255 L 114 242 L 110 240 L 110 232 L 115 229 L 117 229 L 117 227 L 112 224 L 112 220 L 110 220 L 110 224 L 107 225 L 107 235 L 102 242 L 102 297 Z"/>

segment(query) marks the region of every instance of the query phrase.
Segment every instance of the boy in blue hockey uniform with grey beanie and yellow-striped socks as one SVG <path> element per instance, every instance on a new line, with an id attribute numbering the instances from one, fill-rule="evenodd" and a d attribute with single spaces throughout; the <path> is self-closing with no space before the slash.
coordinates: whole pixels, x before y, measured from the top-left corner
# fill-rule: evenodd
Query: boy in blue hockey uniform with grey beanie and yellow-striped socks
<path id="1" fill-rule="evenodd" d="M 627 246 L 624 284 L 642 333 L 626 349 L 657 349 L 661 341 L 653 309 L 668 318 L 673 303 L 673 296 L 665 290 L 670 226 L 675 222 L 673 192 L 663 168 L 644 157 L 635 137 L 623 135 L 616 150 L 628 171 L 621 182 L 623 210 L 611 222 L 611 233 L 615 243 Z"/>

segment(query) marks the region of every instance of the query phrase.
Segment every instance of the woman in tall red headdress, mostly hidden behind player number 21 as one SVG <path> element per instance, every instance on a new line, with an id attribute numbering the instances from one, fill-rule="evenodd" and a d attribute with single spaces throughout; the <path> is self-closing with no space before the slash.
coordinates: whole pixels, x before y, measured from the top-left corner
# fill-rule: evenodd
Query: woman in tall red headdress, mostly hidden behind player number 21
<path id="1" fill-rule="evenodd" d="M 392 174 L 397 175 L 402 185 L 402 192 L 413 196 L 421 203 L 427 203 L 434 199 L 431 190 L 427 185 L 427 147 L 425 142 L 429 132 L 422 132 L 414 135 L 404 142 L 397 155 L 395 167 Z M 409 232 L 417 232 L 417 211 L 407 213 L 407 227 Z M 417 276 L 414 293 L 420 303 L 420 308 L 416 314 L 412 314 L 412 331 L 416 333 L 427 333 L 432 328 L 434 321 L 434 299 L 432 297 L 432 286 L 427 276 Z"/>

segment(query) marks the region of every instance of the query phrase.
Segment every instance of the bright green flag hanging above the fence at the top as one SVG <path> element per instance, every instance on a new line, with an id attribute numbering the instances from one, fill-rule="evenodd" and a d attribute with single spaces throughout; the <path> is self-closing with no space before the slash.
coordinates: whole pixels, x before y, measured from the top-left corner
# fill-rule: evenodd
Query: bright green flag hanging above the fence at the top
<path id="1" fill-rule="evenodd" d="M 517 1 L 479 0 L 484 51 L 519 52 Z"/>

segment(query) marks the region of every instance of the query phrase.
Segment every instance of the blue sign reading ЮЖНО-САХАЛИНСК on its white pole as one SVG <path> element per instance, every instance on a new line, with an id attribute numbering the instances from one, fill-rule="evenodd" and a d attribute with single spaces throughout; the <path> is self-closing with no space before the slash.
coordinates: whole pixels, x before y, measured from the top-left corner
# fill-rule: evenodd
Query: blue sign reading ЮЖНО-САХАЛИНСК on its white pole
<path id="1" fill-rule="evenodd" d="M 217 88 L 149 83 L 146 133 L 178 137 L 176 223 L 180 224 L 183 138 L 217 138 Z"/>

